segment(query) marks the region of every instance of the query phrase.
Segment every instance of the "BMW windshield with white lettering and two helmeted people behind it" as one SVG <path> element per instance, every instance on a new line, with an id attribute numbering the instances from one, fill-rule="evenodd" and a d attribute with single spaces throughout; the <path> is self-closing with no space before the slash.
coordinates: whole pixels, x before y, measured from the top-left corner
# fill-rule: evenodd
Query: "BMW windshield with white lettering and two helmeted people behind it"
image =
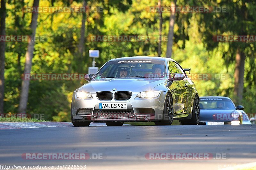
<path id="1" fill-rule="evenodd" d="M 165 78 L 164 61 L 158 60 L 118 60 L 108 61 L 94 76 L 100 78 L 140 77 Z"/>

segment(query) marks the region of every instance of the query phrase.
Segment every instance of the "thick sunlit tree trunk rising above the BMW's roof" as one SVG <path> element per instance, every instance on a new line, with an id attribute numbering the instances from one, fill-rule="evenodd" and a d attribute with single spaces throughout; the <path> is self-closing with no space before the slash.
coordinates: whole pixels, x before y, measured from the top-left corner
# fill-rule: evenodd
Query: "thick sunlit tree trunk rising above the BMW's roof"
<path id="1" fill-rule="evenodd" d="M 172 10 L 171 10 L 171 16 L 170 16 L 170 23 L 169 23 L 169 32 L 168 32 L 168 40 L 167 40 L 167 50 L 166 50 L 166 57 L 171 58 L 172 56 L 172 44 L 173 44 L 173 27 L 175 23 L 175 13 L 176 13 L 176 2 L 177 0 L 174 0 L 171 3 Z"/>

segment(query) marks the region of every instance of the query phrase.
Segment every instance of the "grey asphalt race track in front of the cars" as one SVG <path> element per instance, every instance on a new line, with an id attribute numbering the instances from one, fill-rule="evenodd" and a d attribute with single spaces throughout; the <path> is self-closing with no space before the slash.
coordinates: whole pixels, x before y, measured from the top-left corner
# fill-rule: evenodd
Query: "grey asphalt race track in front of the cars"
<path id="1" fill-rule="evenodd" d="M 256 162 L 256 125 L 4 129 L 0 130 L 0 144 L 2 166 L 52 165 L 57 169 L 58 165 L 86 165 L 86 169 L 210 170 Z M 24 156 L 26 153 L 31 157 Z M 80 155 L 75 160 L 72 156 L 68 160 L 32 159 L 33 153 L 86 153 L 90 158 L 84 159 Z M 175 153 L 175 158 L 159 160 L 156 153 L 162 153 L 163 159 L 163 155 L 168 155 L 166 153 Z M 199 156 L 194 155 L 191 159 L 187 153 L 204 153 L 204 157 L 196 159 Z M 180 160 L 179 154 L 187 157 Z M 72 169 L 78 168 L 73 166 Z"/>

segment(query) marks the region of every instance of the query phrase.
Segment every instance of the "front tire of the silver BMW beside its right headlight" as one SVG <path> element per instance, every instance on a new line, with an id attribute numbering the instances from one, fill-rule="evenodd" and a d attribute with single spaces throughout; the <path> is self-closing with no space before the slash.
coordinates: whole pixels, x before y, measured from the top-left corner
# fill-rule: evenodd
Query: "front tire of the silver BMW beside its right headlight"
<path id="1" fill-rule="evenodd" d="M 171 125 L 173 122 L 173 100 L 172 95 L 170 93 L 167 94 L 165 102 L 164 102 L 164 112 L 163 116 L 165 120 L 156 121 L 156 125 Z M 166 120 L 167 119 L 167 120 Z"/>

